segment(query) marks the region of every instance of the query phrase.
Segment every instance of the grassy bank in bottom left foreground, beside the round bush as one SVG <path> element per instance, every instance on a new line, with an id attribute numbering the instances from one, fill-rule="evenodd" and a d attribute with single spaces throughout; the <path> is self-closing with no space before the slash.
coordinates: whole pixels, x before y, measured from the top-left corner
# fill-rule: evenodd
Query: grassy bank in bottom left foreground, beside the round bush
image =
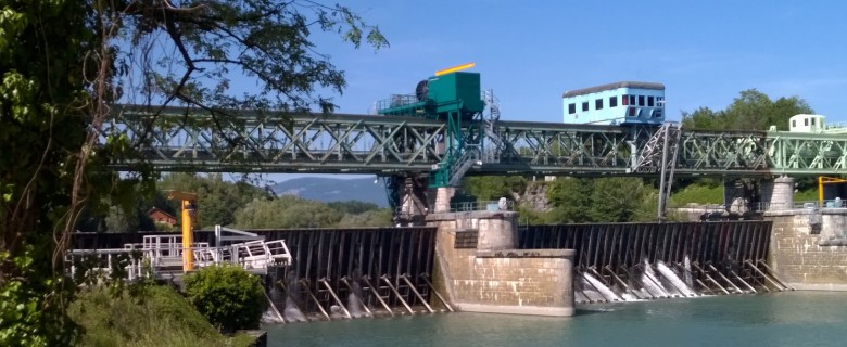
<path id="1" fill-rule="evenodd" d="M 243 335 L 226 337 L 169 286 L 151 286 L 140 298 L 105 288 L 86 290 L 71 317 L 84 327 L 78 346 L 182 347 L 250 346 Z"/>

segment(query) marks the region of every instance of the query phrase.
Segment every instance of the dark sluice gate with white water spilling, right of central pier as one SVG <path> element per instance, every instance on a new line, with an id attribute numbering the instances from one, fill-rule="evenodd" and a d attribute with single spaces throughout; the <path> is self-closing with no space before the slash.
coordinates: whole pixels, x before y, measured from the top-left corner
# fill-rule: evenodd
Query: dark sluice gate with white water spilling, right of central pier
<path id="1" fill-rule="evenodd" d="M 771 221 L 529 226 L 522 249 L 571 248 L 578 303 L 784 291 Z"/>

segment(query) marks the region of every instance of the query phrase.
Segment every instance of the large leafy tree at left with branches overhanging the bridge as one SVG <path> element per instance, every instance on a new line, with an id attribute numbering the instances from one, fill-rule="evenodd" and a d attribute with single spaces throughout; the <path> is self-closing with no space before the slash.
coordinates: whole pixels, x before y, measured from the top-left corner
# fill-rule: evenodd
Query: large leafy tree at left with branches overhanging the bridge
<path id="1" fill-rule="evenodd" d="M 354 47 L 387 44 L 341 5 L 188 3 L 0 2 L 0 345 L 73 343 L 64 307 L 74 286 L 62 275 L 62 253 L 85 205 L 102 207 L 126 192 L 104 165 L 138 157 L 134 150 L 167 127 L 163 106 L 208 112 L 213 124 L 197 126 L 237 145 L 244 139 L 227 110 L 285 117 L 267 111 L 333 108 L 316 89 L 341 92 L 344 75 L 315 48 L 313 31 L 338 33 Z M 258 87 L 230 90 L 239 77 Z M 114 133 L 101 143 L 117 101 L 148 105 L 154 116 L 136 142 Z M 154 190 L 149 165 L 127 177 Z"/>

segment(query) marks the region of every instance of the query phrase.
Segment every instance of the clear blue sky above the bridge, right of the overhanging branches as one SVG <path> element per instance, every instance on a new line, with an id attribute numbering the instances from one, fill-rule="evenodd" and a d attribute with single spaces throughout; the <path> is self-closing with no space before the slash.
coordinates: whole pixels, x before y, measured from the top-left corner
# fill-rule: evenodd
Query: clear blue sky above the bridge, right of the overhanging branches
<path id="1" fill-rule="evenodd" d="M 382 1 L 346 3 L 379 25 L 390 48 L 336 36 L 318 51 L 345 70 L 334 101 L 367 113 L 412 93 L 438 69 L 476 62 L 502 118 L 561 121 L 561 94 L 619 80 L 666 85 L 667 115 L 722 110 L 745 89 L 797 95 L 829 121 L 847 120 L 847 2 Z"/>

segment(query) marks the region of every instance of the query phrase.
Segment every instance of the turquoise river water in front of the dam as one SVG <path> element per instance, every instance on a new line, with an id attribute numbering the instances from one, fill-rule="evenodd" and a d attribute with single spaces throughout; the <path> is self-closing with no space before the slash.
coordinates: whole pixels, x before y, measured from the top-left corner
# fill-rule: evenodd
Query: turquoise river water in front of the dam
<path id="1" fill-rule="evenodd" d="M 847 293 L 578 306 L 570 318 L 439 313 L 265 326 L 268 346 L 847 346 Z"/>

